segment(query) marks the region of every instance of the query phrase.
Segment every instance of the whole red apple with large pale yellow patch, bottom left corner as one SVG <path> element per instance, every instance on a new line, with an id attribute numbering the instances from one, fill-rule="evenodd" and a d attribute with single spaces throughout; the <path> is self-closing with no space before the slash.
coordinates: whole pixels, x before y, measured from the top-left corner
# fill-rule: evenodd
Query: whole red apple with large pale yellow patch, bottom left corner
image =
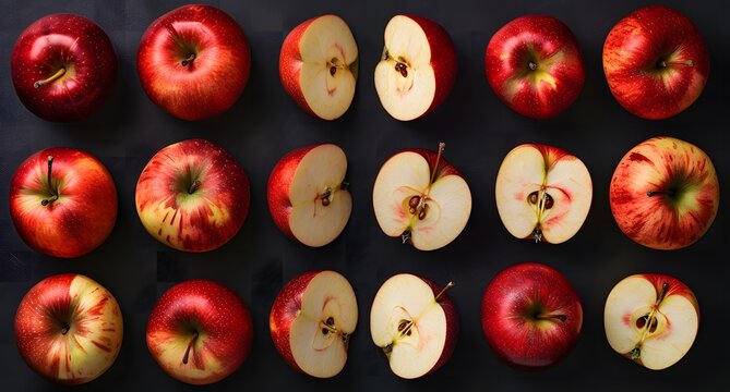
<path id="1" fill-rule="evenodd" d="M 36 283 L 15 314 L 21 356 L 34 371 L 62 384 L 86 383 L 107 371 L 122 334 L 121 310 L 111 293 L 75 273 Z"/>

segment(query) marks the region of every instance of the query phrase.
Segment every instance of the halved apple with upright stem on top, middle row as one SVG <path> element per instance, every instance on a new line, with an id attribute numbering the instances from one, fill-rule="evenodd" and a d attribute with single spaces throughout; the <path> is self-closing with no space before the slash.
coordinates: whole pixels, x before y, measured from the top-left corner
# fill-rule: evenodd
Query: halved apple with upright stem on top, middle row
<path id="1" fill-rule="evenodd" d="M 454 241 L 471 215 L 471 192 L 459 171 L 439 151 L 412 149 L 391 157 L 373 186 L 373 209 L 383 232 L 417 249 Z"/>

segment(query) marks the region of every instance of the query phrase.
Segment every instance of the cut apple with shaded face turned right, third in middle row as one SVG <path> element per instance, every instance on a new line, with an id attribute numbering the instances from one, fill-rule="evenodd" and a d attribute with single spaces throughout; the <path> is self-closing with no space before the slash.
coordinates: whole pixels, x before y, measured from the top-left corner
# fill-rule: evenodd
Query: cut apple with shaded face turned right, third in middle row
<path id="1" fill-rule="evenodd" d="M 287 236 L 312 247 L 334 241 L 352 211 L 347 157 L 333 144 L 296 149 L 272 170 L 268 209 Z"/>

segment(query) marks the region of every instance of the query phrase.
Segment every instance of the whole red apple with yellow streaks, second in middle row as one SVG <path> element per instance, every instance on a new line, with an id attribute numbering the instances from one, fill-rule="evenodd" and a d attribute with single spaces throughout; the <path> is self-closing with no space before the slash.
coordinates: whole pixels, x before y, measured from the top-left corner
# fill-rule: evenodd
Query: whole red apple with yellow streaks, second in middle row
<path id="1" fill-rule="evenodd" d="M 186 252 L 207 252 L 238 233 L 249 211 L 249 177 L 223 147 L 188 139 L 157 151 L 140 174 L 136 212 L 147 232 Z"/>

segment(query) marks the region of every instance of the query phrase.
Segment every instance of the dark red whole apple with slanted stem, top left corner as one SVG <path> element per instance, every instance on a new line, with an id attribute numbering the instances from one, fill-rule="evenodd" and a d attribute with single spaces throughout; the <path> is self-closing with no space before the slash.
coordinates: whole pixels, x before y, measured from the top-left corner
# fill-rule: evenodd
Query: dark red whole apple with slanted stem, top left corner
<path id="1" fill-rule="evenodd" d="M 50 79 L 59 70 L 67 72 Z M 117 54 L 106 33 L 75 14 L 50 14 L 31 24 L 11 54 L 15 93 L 48 121 L 81 121 L 104 103 L 117 82 Z M 37 82 L 48 81 L 35 87 Z"/>

